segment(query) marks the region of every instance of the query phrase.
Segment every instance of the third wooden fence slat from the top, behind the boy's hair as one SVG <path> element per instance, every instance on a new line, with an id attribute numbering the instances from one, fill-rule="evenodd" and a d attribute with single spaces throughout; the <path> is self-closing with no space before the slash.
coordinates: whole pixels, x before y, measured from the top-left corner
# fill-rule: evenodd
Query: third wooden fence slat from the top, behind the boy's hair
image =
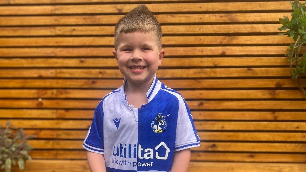
<path id="1" fill-rule="evenodd" d="M 158 14 L 155 17 L 164 23 L 231 23 L 231 22 L 278 22 L 290 13 L 213 13 L 213 14 Z M 0 26 L 37 26 L 70 24 L 116 24 L 124 15 L 82 16 L 22 16 L 0 17 Z"/>

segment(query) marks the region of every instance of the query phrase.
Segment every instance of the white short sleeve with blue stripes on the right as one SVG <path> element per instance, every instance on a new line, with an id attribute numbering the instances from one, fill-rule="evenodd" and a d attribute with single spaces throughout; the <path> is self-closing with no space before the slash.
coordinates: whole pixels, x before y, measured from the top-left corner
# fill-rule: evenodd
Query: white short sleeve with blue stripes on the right
<path id="1" fill-rule="evenodd" d="M 200 146 L 200 138 L 193 123 L 191 111 L 181 96 L 177 116 L 177 132 L 174 151 Z"/>

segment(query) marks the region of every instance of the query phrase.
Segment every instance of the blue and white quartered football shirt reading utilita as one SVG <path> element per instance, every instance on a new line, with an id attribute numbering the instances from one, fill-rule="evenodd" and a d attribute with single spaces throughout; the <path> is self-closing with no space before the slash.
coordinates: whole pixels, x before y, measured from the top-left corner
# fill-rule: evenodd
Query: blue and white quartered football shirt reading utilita
<path id="1" fill-rule="evenodd" d="M 175 151 L 200 146 L 190 109 L 156 75 L 148 103 L 134 108 L 126 101 L 126 84 L 124 78 L 99 102 L 83 147 L 104 154 L 108 172 L 168 172 Z"/>

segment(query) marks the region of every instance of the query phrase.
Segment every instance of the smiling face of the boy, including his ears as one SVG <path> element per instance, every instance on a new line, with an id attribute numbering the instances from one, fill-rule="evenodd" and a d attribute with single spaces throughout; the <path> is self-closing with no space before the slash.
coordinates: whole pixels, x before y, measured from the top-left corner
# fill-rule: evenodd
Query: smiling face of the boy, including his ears
<path id="1" fill-rule="evenodd" d="M 159 51 L 153 32 L 121 33 L 117 52 L 113 50 L 120 72 L 128 81 L 150 81 L 165 55 Z"/>

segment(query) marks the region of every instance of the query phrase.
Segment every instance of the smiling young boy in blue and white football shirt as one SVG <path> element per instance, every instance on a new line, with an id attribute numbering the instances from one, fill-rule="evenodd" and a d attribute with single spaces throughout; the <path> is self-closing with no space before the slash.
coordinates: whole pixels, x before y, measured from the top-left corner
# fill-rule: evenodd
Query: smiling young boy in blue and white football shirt
<path id="1" fill-rule="evenodd" d="M 145 5 L 117 23 L 113 54 L 125 78 L 95 109 L 83 142 L 91 171 L 186 172 L 190 148 L 200 146 L 184 98 L 156 78 L 161 35 Z"/>

